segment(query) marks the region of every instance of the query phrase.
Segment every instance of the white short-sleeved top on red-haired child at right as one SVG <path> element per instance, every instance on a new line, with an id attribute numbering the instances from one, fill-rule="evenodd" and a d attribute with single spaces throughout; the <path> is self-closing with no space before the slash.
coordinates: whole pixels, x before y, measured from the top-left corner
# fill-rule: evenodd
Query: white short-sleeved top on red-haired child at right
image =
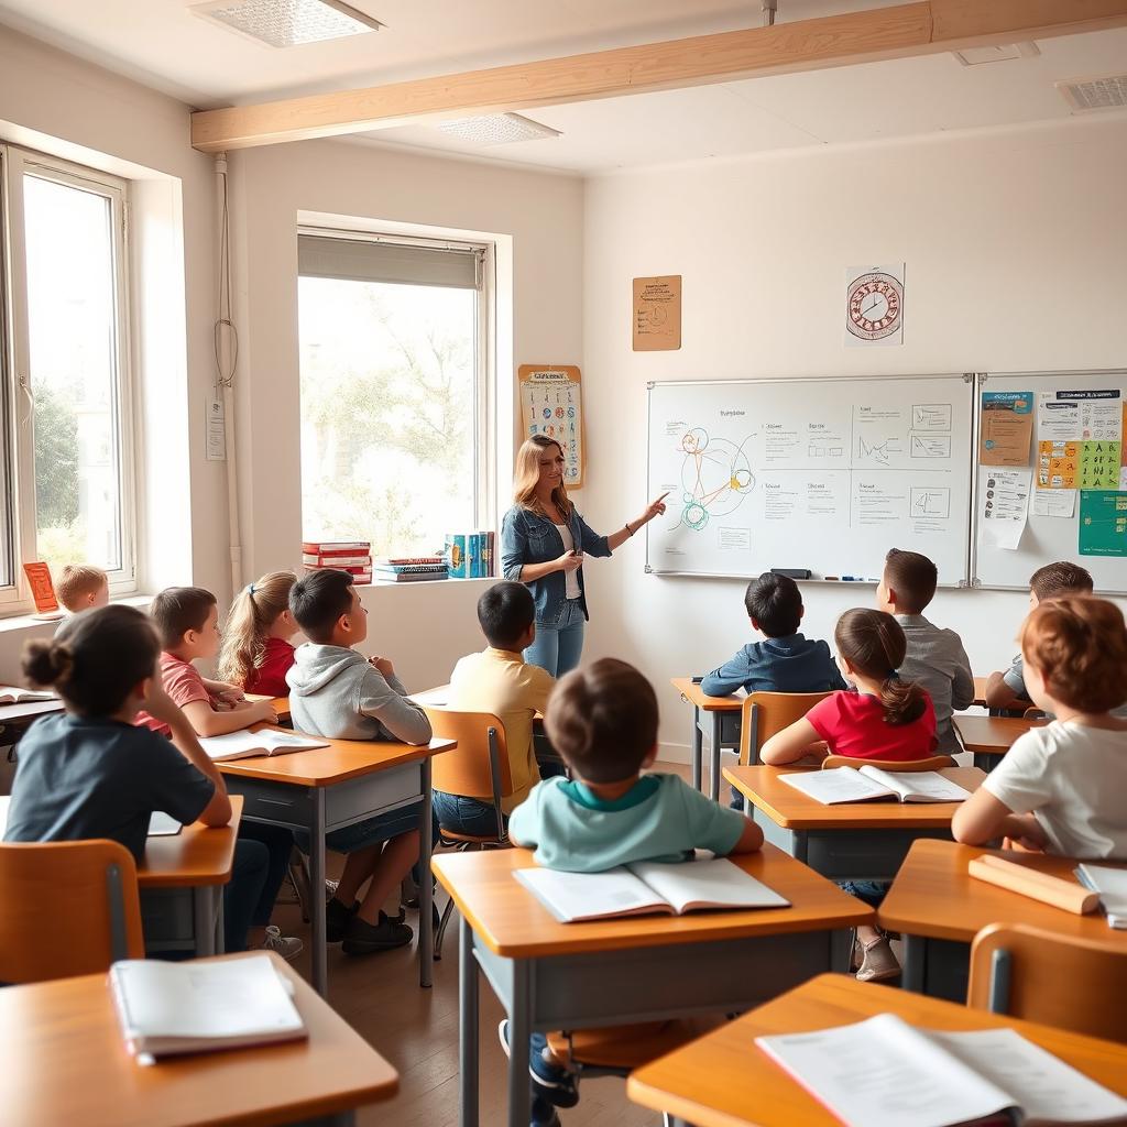
<path id="1" fill-rule="evenodd" d="M 1127 860 L 1127 731 L 1054 720 L 1021 736 L 983 787 L 1033 813 L 1064 857 Z"/>

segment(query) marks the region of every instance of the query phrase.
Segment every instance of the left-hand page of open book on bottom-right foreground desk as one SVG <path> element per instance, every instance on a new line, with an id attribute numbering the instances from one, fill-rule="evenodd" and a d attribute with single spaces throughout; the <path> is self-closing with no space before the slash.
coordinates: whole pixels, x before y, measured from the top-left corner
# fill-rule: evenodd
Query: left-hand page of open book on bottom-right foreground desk
<path id="1" fill-rule="evenodd" d="M 848 1127 L 948 1127 L 1013 1103 L 890 1013 L 755 1044 Z"/>

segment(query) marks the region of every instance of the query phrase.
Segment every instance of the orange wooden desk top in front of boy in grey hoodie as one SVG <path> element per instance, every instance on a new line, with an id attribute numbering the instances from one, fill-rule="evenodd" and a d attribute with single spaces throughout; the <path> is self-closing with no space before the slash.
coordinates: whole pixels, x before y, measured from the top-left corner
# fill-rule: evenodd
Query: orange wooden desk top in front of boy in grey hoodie
<path id="1" fill-rule="evenodd" d="M 258 731 L 259 726 L 255 726 L 251 730 Z M 453 751 L 458 746 L 458 740 L 435 738 L 429 744 L 416 746 L 380 739 L 330 739 L 328 745 L 328 747 L 313 747 L 308 752 L 231 760 L 216 763 L 215 766 L 225 775 L 266 779 L 294 787 L 331 787 L 348 779 L 358 779 L 361 775 L 388 771 L 405 763 L 417 763 L 441 752 Z"/>

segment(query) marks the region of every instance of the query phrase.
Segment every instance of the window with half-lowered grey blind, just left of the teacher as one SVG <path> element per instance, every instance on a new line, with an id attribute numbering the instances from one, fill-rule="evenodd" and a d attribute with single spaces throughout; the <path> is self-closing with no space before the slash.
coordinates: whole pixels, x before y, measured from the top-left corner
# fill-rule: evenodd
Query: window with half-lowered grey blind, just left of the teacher
<path id="1" fill-rule="evenodd" d="M 299 236 L 303 539 L 425 556 L 488 516 L 489 248 Z"/>

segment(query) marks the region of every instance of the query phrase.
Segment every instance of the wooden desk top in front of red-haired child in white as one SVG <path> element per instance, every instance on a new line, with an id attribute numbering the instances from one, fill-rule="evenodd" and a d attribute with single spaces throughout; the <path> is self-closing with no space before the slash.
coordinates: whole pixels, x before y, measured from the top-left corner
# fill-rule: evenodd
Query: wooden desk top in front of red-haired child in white
<path id="1" fill-rule="evenodd" d="M 915 841 L 880 906 L 881 924 L 908 935 L 969 943 L 987 924 L 1026 923 L 1063 937 L 1121 942 L 1127 952 L 1127 932 L 1109 928 L 1102 912 L 1074 915 L 1020 893 L 975 880 L 967 872 L 967 866 L 973 858 L 984 853 L 1075 880 L 1073 869 L 1077 862 L 1070 858 L 979 849 L 955 842 Z M 1095 863 L 1115 864 L 1112 861 Z"/>

